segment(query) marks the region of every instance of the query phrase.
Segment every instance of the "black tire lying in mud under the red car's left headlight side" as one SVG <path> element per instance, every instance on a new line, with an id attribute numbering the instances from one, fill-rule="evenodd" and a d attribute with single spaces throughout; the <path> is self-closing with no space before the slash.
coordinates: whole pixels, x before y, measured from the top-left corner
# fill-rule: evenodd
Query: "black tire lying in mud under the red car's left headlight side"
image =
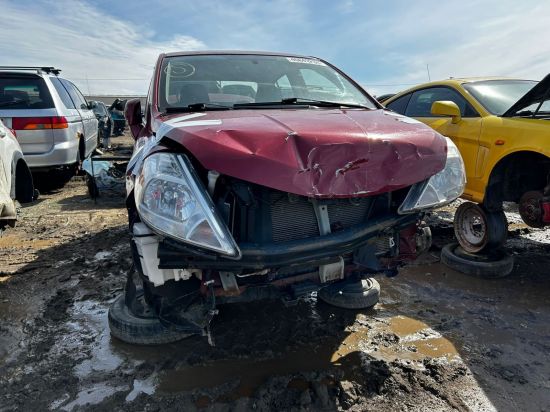
<path id="1" fill-rule="evenodd" d="M 193 335 L 166 328 L 154 315 L 135 316 L 126 306 L 124 294 L 120 295 L 109 308 L 109 328 L 111 335 L 133 345 L 162 345 Z"/>

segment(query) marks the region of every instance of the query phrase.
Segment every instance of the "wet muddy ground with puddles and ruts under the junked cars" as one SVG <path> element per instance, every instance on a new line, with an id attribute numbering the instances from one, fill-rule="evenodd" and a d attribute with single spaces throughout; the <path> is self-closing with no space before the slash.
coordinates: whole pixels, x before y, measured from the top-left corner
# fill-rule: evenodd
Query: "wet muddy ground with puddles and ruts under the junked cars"
<path id="1" fill-rule="evenodd" d="M 513 209 L 507 278 L 439 263 L 451 207 L 431 217 L 429 253 L 379 278 L 372 310 L 227 305 L 215 347 L 132 347 L 107 326 L 131 263 L 123 198 L 41 179 L 0 237 L 2 411 L 550 411 L 550 235 Z"/>

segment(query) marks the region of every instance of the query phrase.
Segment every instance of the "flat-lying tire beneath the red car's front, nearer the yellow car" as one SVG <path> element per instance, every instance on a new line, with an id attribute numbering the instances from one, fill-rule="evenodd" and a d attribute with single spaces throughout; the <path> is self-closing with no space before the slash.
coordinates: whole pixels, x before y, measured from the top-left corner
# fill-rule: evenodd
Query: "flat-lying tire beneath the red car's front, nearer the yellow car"
<path id="1" fill-rule="evenodd" d="M 346 279 L 321 288 L 317 297 L 338 308 L 367 309 L 378 303 L 380 285 L 373 278 Z"/>

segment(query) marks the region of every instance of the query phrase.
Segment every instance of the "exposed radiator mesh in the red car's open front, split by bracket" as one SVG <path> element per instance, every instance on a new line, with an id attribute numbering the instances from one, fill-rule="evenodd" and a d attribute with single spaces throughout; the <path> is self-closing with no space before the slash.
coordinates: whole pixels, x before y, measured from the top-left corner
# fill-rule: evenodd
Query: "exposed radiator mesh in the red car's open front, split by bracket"
<path id="1" fill-rule="evenodd" d="M 273 242 L 306 239 L 319 236 L 319 226 L 311 201 L 303 196 L 271 192 L 269 197 Z M 364 222 L 369 198 L 326 201 L 331 231 L 353 227 Z"/>

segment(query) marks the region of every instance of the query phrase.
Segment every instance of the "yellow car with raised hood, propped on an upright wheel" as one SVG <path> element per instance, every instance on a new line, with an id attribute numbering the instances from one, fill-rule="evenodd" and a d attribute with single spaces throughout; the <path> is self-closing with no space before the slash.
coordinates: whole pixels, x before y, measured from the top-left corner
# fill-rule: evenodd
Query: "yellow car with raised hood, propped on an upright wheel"
<path id="1" fill-rule="evenodd" d="M 529 226 L 550 225 L 550 75 L 542 81 L 470 78 L 416 86 L 384 102 L 450 137 L 468 183 L 455 214 L 466 252 L 506 240 L 502 203 L 519 203 Z"/>

